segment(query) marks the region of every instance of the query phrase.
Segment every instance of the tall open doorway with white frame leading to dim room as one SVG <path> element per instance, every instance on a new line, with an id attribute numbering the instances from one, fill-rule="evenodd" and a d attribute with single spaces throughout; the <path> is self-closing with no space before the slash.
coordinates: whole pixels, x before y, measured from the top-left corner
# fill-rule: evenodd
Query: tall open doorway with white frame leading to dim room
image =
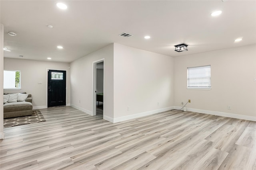
<path id="1" fill-rule="evenodd" d="M 104 114 L 104 59 L 94 62 L 93 115 Z"/>

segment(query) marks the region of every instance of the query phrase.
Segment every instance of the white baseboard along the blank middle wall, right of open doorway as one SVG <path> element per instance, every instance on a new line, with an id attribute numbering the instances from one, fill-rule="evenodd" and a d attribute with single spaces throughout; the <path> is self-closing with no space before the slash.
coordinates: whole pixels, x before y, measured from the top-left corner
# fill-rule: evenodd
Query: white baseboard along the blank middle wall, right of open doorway
<path id="1" fill-rule="evenodd" d="M 127 115 L 127 116 L 123 116 L 123 117 L 117 117 L 117 118 L 114 118 L 113 122 L 112 121 L 110 121 L 110 122 L 117 123 L 117 122 L 120 122 L 120 121 L 135 119 L 135 118 L 138 118 L 138 117 L 148 116 L 148 115 L 152 115 L 152 114 L 155 114 L 155 113 L 160 113 L 160 112 L 168 111 L 168 110 L 172 110 L 172 109 L 174 109 L 174 106 L 165 107 L 165 108 L 162 108 L 162 109 L 151 110 L 151 111 L 145 111 L 145 112 L 142 112 L 142 113 L 136 113 L 136 114 L 133 114 L 133 115 Z"/>

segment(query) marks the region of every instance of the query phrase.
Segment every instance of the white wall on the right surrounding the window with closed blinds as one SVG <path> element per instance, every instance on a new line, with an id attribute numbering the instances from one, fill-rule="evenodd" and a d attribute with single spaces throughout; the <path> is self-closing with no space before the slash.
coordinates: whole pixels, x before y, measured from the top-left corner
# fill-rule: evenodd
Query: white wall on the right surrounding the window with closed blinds
<path id="1" fill-rule="evenodd" d="M 256 117 L 256 45 L 176 57 L 175 106 L 254 120 Z M 212 90 L 188 90 L 187 67 L 211 65 Z M 228 109 L 228 106 L 231 109 Z M 198 111 L 200 111 L 198 110 Z M 230 114 L 225 114 L 230 113 Z M 236 114 L 236 115 L 232 115 Z M 254 118 L 253 118 L 254 117 Z M 256 119 L 255 119 L 256 120 Z"/>

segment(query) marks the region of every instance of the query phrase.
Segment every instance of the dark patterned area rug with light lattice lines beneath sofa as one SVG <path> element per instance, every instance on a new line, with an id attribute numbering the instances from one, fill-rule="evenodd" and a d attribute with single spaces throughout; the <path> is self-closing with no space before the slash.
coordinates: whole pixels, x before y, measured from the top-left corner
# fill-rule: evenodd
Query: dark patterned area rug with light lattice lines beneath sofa
<path id="1" fill-rule="evenodd" d="M 40 110 L 33 110 L 31 116 L 22 116 L 4 119 L 4 127 L 12 127 L 18 125 L 26 125 L 46 121 Z"/>

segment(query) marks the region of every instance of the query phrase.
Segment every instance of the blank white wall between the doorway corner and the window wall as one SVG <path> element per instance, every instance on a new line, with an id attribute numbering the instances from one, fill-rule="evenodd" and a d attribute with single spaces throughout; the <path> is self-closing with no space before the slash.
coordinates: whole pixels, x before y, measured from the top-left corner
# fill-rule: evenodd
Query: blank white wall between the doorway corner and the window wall
<path id="1" fill-rule="evenodd" d="M 114 43 L 114 122 L 172 106 L 174 59 Z"/>

